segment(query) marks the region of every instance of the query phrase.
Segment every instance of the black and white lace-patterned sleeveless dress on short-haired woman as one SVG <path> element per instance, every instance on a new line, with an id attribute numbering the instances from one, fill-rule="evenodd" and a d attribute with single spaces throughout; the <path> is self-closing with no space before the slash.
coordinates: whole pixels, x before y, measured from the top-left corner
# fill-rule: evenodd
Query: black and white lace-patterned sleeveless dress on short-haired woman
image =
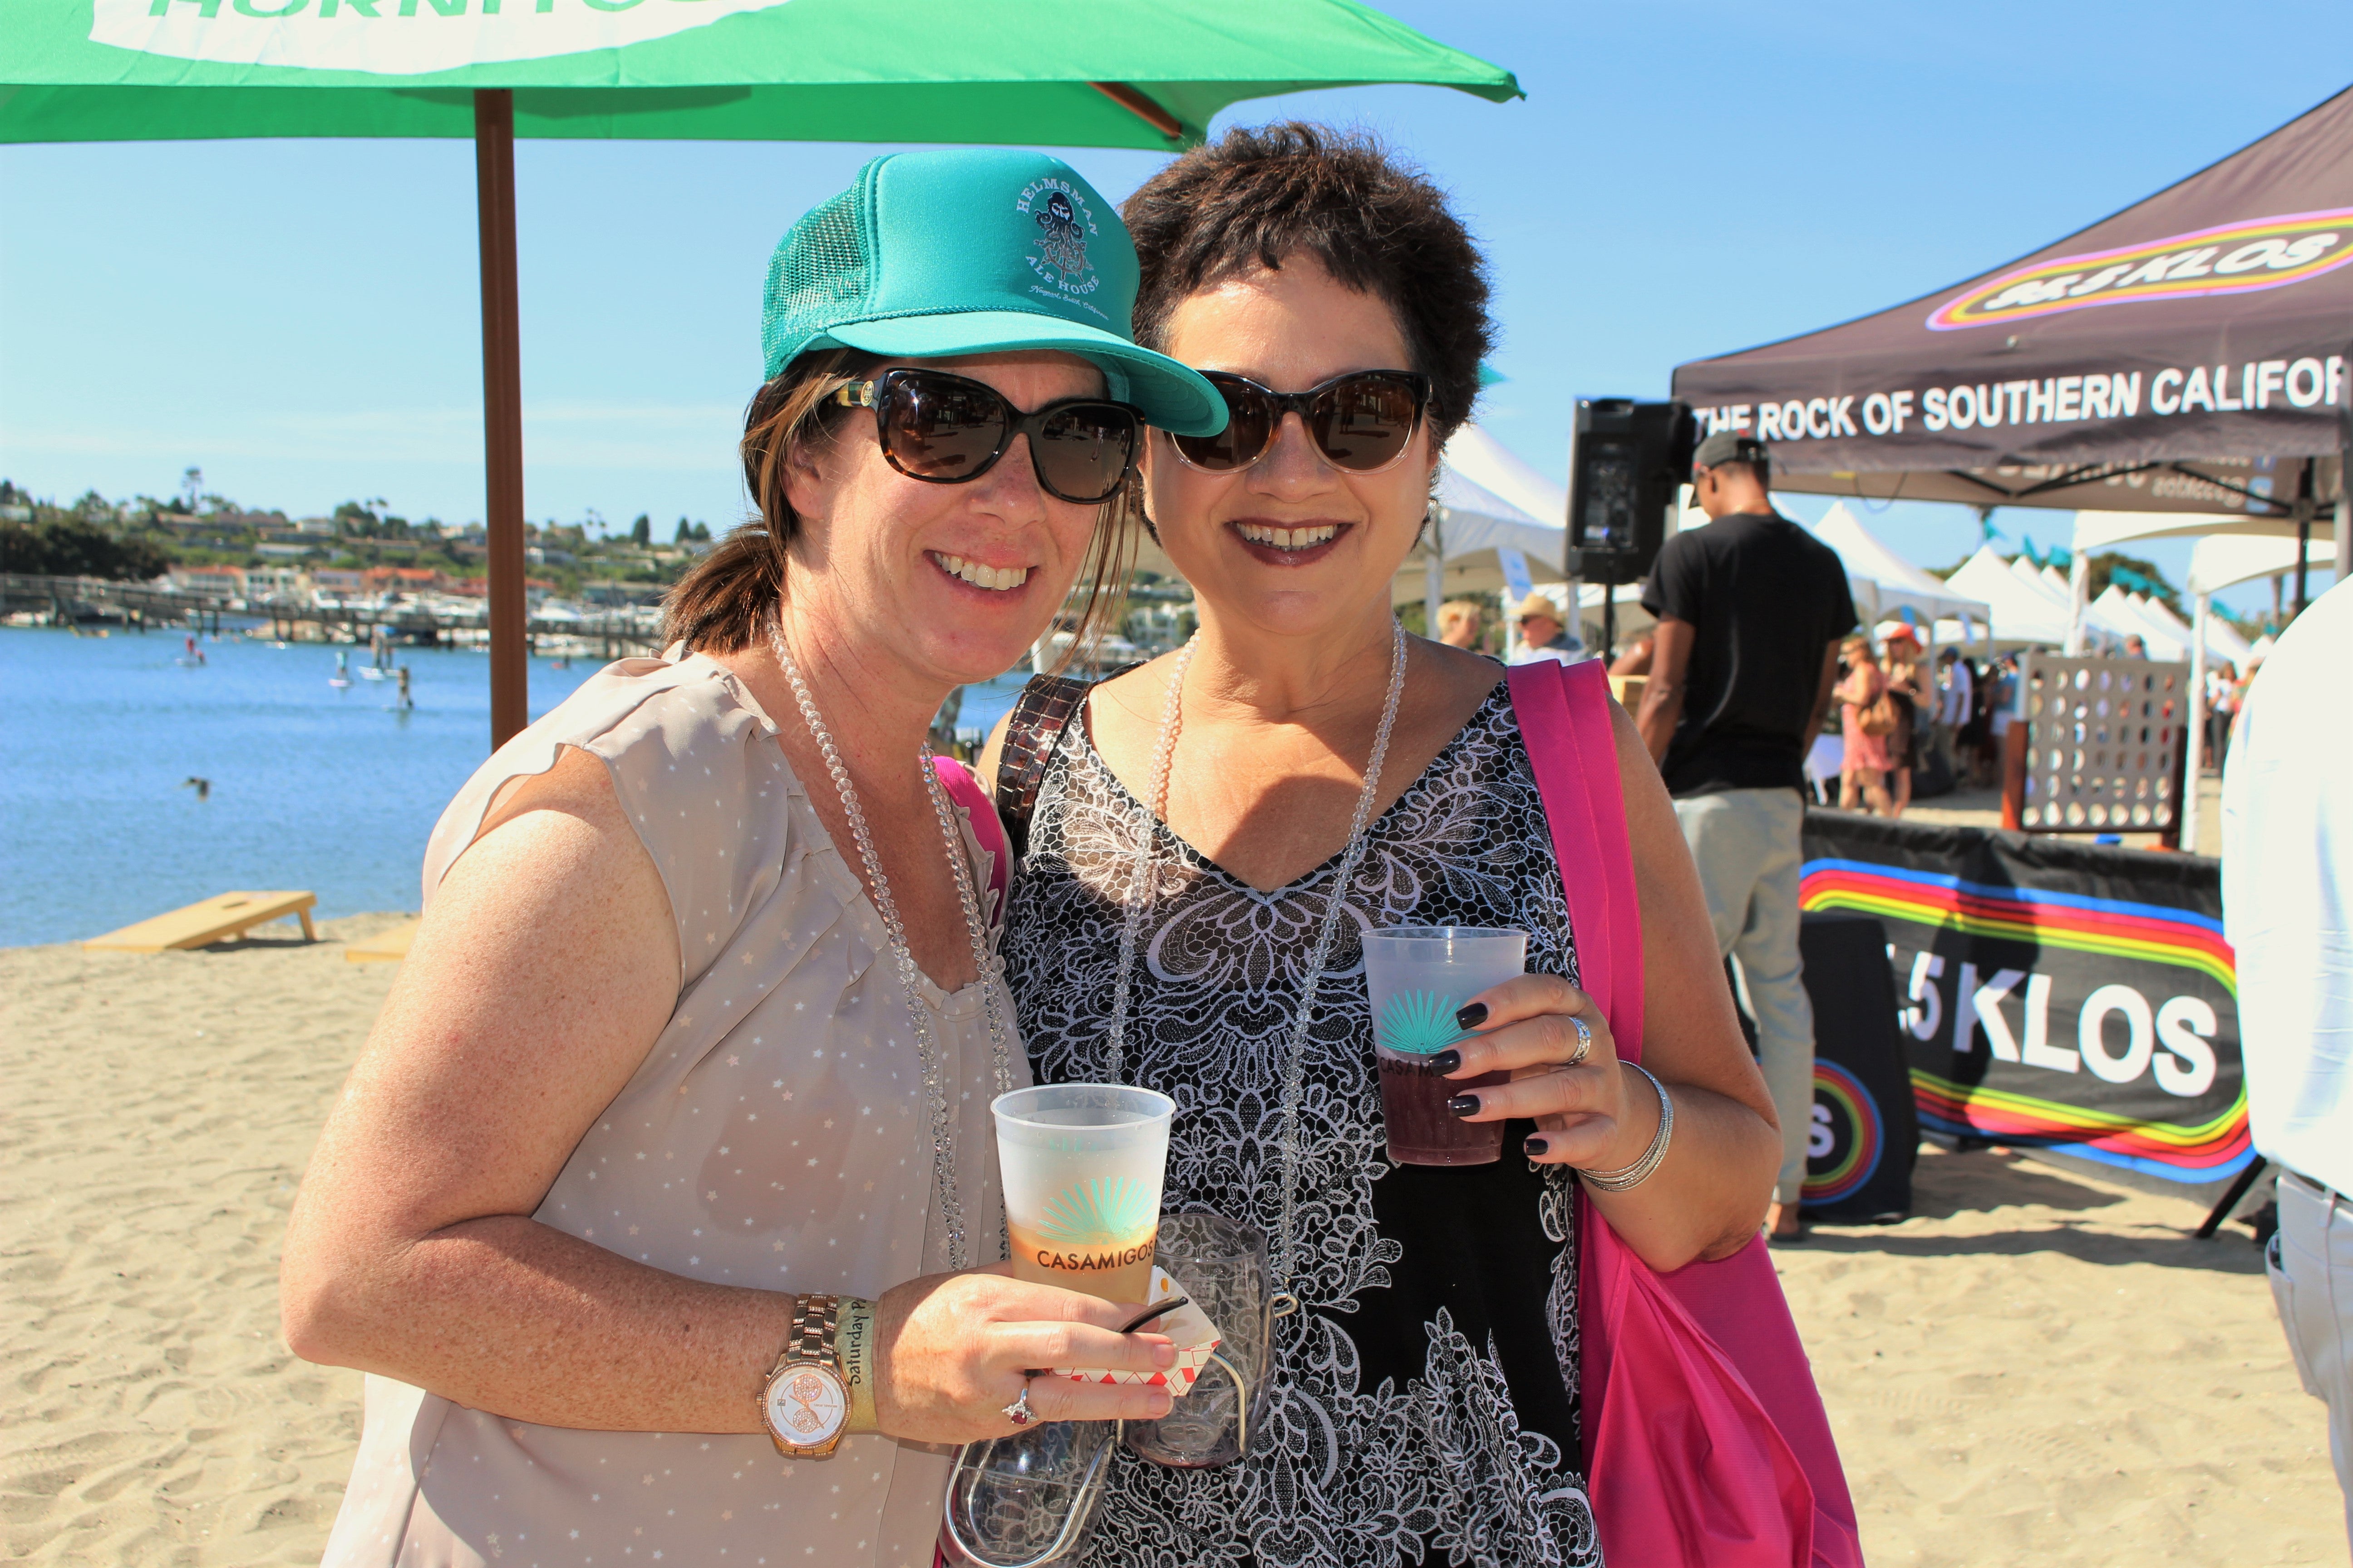
<path id="1" fill-rule="evenodd" d="M 1184 766 L 1179 745 L 1176 766 Z M 1038 792 L 1005 954 L 1038 1081 L 1104 1077 L 1113 971 L 1146 816 L 1073 722 Z M 1136 943 L 1129 1084 L 1176 1100 L 1167 1208 L 1275 1234 L 1282 1051 L 1339 856 L 1261 893 L 1158 823 Z M 1572 1185 L 1506 1128 L 1492 1166 L 1393 1166 L 1365 929 L 1518 926 L 1577 976 L 1537 780 L 1499 684 L 1372 825 L 1306 1046 L 1301 1312 L 1275 1324 L 1266 1429 L 1224 1469 L 1125 1448 L 1096 1568 L 1600 1563 L 1577 1439 Z"/>

